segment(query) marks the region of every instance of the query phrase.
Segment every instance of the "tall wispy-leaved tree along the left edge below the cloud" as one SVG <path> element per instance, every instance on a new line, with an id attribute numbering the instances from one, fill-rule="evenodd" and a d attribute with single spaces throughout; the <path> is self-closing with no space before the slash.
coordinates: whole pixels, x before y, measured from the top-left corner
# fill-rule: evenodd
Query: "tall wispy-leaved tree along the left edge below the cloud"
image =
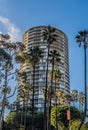
<path id="1" fill-rule="evenodd" d="M 9 35 L 1 34 L 0 37 L 0 130 L 2 130 L 5 108 L 9 107 L 9 98 L 15 94 L 15 91 L 11 93 L 14 85 L 11 86 L 10 81 L 12 82 L 15 77 L 13 60 L 16 43 L 13 45 Z"/>

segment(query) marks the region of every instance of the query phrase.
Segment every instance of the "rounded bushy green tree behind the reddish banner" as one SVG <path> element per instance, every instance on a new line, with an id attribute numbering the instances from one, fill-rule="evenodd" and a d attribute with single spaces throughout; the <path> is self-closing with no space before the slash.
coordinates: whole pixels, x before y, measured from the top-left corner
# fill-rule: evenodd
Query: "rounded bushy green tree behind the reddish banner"
<path id="1" fill-rule="evenodd" d="M 57 107 L 57 123 L 59 130 L 66 130 L 69 125 L 67 120 L 67 109 L 68 106 L 58 106 Z M 81 119 L 81 114 L 79 110 L 75 107 L 70 107 L 71 120 Z M 51 110 L 51 125 L 56 127 L 56 107 Z"/>

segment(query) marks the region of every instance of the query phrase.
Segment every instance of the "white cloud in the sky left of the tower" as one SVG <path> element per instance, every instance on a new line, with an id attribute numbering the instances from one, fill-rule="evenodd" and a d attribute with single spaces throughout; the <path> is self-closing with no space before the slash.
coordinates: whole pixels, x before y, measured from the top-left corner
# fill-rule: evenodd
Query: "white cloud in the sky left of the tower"
<path id="1" fill-rule="evenodd" d="M 6 33 L 11 36 L 12 41 L 20 41 L 21 40 L 21 32 L 20 29 L 13 23 L 10 22 L 8 18 L 0 16 L 0 22 L 4 25 Z"/>

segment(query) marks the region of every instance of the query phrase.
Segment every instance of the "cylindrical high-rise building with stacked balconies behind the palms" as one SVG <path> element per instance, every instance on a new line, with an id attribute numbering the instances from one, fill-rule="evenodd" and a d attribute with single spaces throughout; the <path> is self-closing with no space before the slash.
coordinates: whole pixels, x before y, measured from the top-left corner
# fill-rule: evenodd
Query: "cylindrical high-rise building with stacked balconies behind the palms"
<path id="1" fill-rule="evenodd" d="M 39 46 L 43 50 L 43 58 L 40 59 L 35 69 L 35 106 L 38 111 L 43 111 L 44 100 L 42 89 L 46 85 L 46 58 L 47 58 L 47 41 L 43 41 L 43 30 L 47 26 L 36 26 L 27 30 L 23 35 L 23 44 L 26 45 L 27 51 L 33 46 Z M 62 73 L 61 79 L 58 80 L 56 87 L 57 89 L 63 90 L 66 93 L 70 92 L 69 85 L 69 59 L 68 59 L 68 39 L 67 36 L 59 29 L 56 28 L 55 32 L 58 37 L 56 42 L 51 44 L 50 50 L 57 50 L 60 53 L 60 63 L 55 64 L 55 67 Z M 52 69 L 51 63 L 49 63 L 49 71 Z M 31 70 L 26 64 L 21 65 L 21 70 L 27 72 L 28 80 L 32 83 Z M 51 84 L 48 78 L 48 85 Z M 54 84 L 53 84 L 54 85 Z M 55 86 L 55 85 L 54 85 Z"/>

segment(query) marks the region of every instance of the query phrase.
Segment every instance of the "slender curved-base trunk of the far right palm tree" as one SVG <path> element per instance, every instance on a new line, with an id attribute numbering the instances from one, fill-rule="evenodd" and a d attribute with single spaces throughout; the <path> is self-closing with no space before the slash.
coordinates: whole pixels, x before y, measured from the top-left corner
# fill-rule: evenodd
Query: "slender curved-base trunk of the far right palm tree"
<path id="1" fill-rule="evenodd" d="M 83 118 L 81 120 L 80 126 L 78 128 L 78 130 L 81 129 L 83 122 L 85 121 L 85 117 L 86 117 L 86 111 L 87 111 L 87 74 L 86 74 L 86 47 L 84 44 L 84 89 L 85 89 L 85 106 L 84 106 L 84 113 L 83 113 Z"/>

